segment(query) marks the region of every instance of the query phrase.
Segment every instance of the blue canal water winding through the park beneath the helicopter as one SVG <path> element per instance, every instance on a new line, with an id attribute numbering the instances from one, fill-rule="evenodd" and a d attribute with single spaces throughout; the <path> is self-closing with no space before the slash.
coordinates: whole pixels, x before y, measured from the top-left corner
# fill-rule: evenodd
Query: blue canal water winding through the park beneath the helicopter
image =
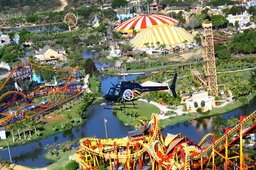
<path id="1" fill-rule="evenodd" d="M 127 76 L 127 80 L 133 80 L 139 75 Z M 113 84 L 120 82 L 123 77 L 110 77 L 110 76 L 101 76 L 102 83 L 102 93 L 105 93 L 111 85 L 110 81 Z M 104 101 L 103 101 L 104 102 Z M 80 127 L 75 127 L 69 131 L 65 131 L 48 137 L 47 139 L 42 139 L 37 142 L 29 143 L 27 145 L 20 145 L 17 147 L 11 147 L 10 153 L 12 156 L 12 162 L 15 164 L 20 164 L 30 167 L 44 167 L 52 162 L 43 158 L 43 155 L 46 154 L 47 150 L 44 149 L 44 146 L 47 144 L 51 145 L 54 142 L 65 142 L 69 140 L 75 140 L 82 137 L 91 137 L 96 136 L 98 138 L 106 138 L 105 129 L 104 129 L 104 118 L 108 120 L 107 131 L 108 138 L 117 138 L 127 135 L 127 131 L 134 130 L 133 127 L 125 126 L 119 119 L 117 115 L 113 114 L 111 110 L 106 110 L 100 106 L 102 102 L 95 104 L 87 113 L 87 121 L 84 125 Z M 253 111 L 256 110 L 256 98 L 250 101 L 246 106 L 240 107 L 225 113 L 222 115 L 225 119 L 230 119 L 230 117 L 239 118 L 239 116 L 250 115 Z M 167 135 L 167 133 L 177 134 L 182 133 L 184 136 L 187 136 L 189 139 L 193 139 L 195 143 L 198 143 L 204 135 L 214 131 L 214 128 L 211 125 L 212 117 L 209 118 L 200 118 L 194 119 L 191 121 L 185 121 L 178 123 L 173 126 L 169 126 L 163 129 L 162 135 Z M 0 151 L 2 159 L 9 159 L 8 150 Z"/>

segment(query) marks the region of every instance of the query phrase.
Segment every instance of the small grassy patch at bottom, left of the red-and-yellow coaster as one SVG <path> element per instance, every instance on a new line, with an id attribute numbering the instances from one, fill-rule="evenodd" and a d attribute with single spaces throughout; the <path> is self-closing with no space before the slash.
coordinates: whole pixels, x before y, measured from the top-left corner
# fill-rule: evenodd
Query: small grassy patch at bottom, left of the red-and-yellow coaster
<path id="1" fill-rule="evenodd" d="M 72 150 L 71 152 L 65 152 L 63 154 L 63 152 L 61 150 L 59 150 L 59 155 L 58 157 L 61 157 L 58 161 L 57 161 L 57 156 L 51 156 L 50 154 L 44 154 L 44 158 L 54 162 L 53 164 L 47 166 L 47 169 L 52 169 L 52 170 L 65 170 L 65 165 L 67 164 L 67 162 L 69 162 L 69 156 L 74 155 L 75 152 L 77 152 L 77 150 Z"/>

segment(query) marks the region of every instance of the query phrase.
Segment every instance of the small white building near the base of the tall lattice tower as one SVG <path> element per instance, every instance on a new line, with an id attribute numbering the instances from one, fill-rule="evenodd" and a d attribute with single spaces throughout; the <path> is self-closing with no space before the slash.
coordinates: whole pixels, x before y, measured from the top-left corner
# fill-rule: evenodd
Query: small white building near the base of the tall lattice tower
<path id="1" fill-rule="evenodd" d="M 202 111 L 212 110 L 212 107 L 215 106 L 215 98 L 208 96 L 208 92 L 194 92 L 192 98 L 186 100 L 187 110 L 195 112 L 197 108 L 195 108 L 194 102 L 197 102 L 198 107 L 201 107 L 202 100 L 205 102 L 205 107 L 202 108 Z"/>

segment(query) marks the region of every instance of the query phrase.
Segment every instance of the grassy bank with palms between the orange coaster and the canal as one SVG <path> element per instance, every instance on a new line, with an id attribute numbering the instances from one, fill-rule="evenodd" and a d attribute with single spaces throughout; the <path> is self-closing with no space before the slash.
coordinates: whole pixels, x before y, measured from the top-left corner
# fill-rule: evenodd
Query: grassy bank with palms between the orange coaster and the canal
<path id="1" fill-rule="evenodd" d="M 92 101 L 92 103 L 89 105 L 89 107 L 87 107 L 85 113 L 87 113 L 87 111 L 89 111 L 89 109 L 97 102 L 100 102 L 104 100 L 103 98 L 101 97 L 97 97 L 94 99 L 94 101 Z M 42 117 L 41 119 L 43 119 L 43 121 L 40 121 L 39 122 L 39 125 L 38 127 L 36 128 L 36 130 L 40 131 L 41 132 L 41 135 L 40 136 L 35 136 L 35 130 L 34 129 L 31 129 L 31 137 L 29 137 L 29 130 L 27 129 L 25 131 L 25 135 L 26 135 L 26 140 L 24 139 L 24 133 L 23 131 L 20 129 L 19 130 L 19 133 L 21 135 L 21 140 L 19 140 L 19 135 L 18 135 L 18 131 L 15 130 L 13 132 L 13 135 L 14 135 L 14 139 L 15 139 L 15 142 L 12 142 L 12 134 L 9 132 L 6 139 L 4 140 L 0 140 L 0 147 L 4 147 L 6 148 L 7 147 L 7 144 L 6 144 L 6 141 L 9 141 L 9 146 L 10 147 L 14 147 L 14 146 L 18 146 L 18 145 L 23 145 L 23 144 L 27 144 L 27 143 L 31 143 L 31 142 L 34 142 L 34 141 L 38 141 L 40 139 L 45 139 L 45 138 L 48 138 L 52 135 L 56 135 L 58 133 L 61 133 L 63 131 L 67 131 L 69 129 L 62 129 L 61 128 L 61 123 L 65 123 L 67 122 L 67 114 L 71 114 L 73 117 L 72 117 L 72 124 L 73 124 L 73 127 L 78 127 L 78 126 L 81 126 L 85 123 L 86 119 L 83 119 L 82 122 L 80 122 L 80 117 L 79 115 L 76 113 L 77 112 L 77 109 L 79 107 L 79 103 L 77 104 L 74 104 L 70 109 L 67 109 L 65 111 L 63 111 L 62 113 L 60 112 L 54 112 L 54 113 L 49 113 L 48 115 Z M 77 124 L 74 122 L 75 119 L 79 119 L 79 122 L 77 122 Z M 53 131 L 53 126 L 56 127 L 56 131 Z"/>

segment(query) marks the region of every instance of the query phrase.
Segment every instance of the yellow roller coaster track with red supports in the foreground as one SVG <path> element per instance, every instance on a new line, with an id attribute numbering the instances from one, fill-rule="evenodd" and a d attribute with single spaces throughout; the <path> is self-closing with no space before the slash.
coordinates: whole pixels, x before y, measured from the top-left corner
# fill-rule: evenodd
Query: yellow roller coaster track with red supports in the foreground
<path id="1" fill-rule="evenodd" d="M 211 158 L 213 161 L 213 153 L 220 155 L 219 151 L 222 151 L 223 153 L 223 148 L 226 147 L 227 150 L 227 147 L 233 146 L 239 137 L 241 142 L 242 136 L 245 137 L 248 133 L 255 133 L 255 116 L 256 111 L 248 117 L 240 117 L 240 124 L 233 129 L 226 129 L 226 137 L 224 135 L 219 139 L 214 139 L 214 142 L 210 147 L 201 149 L 202 155 L 194 149 L 194 151 L 192 150 L 190 152 L 188 144 L 184 142 L 176 145 L 173 152 L 166 155 L 166 150 L 164 152 L 165 146 L 162 145 L 164 144 L 164 141 L 159 128 L 159 117 L 157 114 L 152 114 L 149 136 L 136 138 L 126 137 L 123 139 L 114 139 L 113 141 L 112 139 L 84 138 L 80 140 L 80 150 L 75 153 L 75 159 L 83 166 L 83 168 L 85 168 L 85 170 L 92 168 L 97 169 L 96 162 L 98 164 L 98 158 L 103 159 L 104 161 L 109 160 L 110 164 L 112 164 L 112 160 L 114 160 L 114 166 L 116 166 L 118 162 L 125 163 L 125 169 L 130 170 L 130 167 L 133 169 L 135 168 L 135 160 L 140 162 L 146 153 L 150 157 L 152 170 L 190 170 L 191 167 L 198 168 L 199 166 L 203 166 L 203 164 L 207 164 L 207 162 L 209 163 Z M 235 137 L 237 135 L 239 135 L 239 137 Z M 208 136 L 213 137 L 216 135 L 212 133 L 205 135 L 199 144 L 202 144 Z M 160 142 L 160 140 L 162 140 L 162 142 Z M 242 144 L 240 143 L 240 145 Z M 198 145 L 193 146 L 198 147 Z M 216 156 L 218 156 L 217 154 Z M 223 157 L 224 156 L 222 156 L 222 158 Z M 239 156 L 232 158 L 237 157 Z M 240 156 L 240 162 L 241 157 L 243 156 Z M 228 160 L 231 158 L 226 159 Z M 91 164 L 92 160 L 94 161 L 94 165 Z M 254 163 L 256 162 L 254 161 Z M 112 166 L 110 166 L 110 168 L 112 170 Z"/>

